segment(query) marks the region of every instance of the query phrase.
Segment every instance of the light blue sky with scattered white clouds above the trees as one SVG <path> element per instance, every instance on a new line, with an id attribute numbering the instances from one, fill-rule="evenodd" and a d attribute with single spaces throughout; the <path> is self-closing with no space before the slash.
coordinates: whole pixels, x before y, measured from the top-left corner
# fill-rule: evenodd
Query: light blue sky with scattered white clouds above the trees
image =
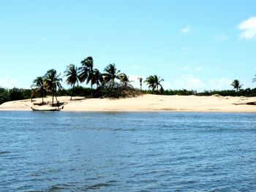
<path id="1" fill-rule="evenodd" d="M 94 68 L 116 64 L 135 87 L 138 77 L 157 74 L 165 89 L 224 90 L 236 79 L 255 88 L 255 7 L 255 0 L 1 1 L 0 87 L 30 88 L 48 69 L 63 77 L 67 65 L 92 56 Z"/>

